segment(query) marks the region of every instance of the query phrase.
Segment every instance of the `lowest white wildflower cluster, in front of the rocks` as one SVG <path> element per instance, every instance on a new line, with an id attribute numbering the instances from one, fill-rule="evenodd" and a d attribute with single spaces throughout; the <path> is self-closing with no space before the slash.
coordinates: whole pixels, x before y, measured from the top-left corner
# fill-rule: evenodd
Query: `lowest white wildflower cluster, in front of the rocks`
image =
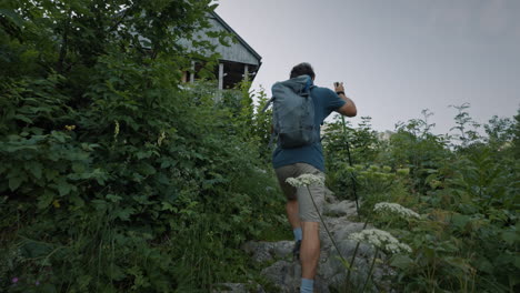
<path id="1" fill-rule="evenodd" d="M 378 229 L 367 229 L 359 233 L 352 233 L 349 239 L 358 242 L 367 242 L 390 253 L 411 252 L 410 246 L 399 242 L 399 240 L 387 231 Z"/>

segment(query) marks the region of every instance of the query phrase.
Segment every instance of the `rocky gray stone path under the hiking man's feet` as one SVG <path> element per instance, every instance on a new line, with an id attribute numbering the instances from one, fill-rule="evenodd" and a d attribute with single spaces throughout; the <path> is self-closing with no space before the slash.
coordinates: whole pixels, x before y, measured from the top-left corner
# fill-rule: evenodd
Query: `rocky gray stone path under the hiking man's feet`
<path id="1" fill-rule="evenodd" d="M 326 201 L 327 203 L 323 206 L 324 223 L 329 228 L 341 254 L 350 262 L 357 243 L 348 240 L 348 236 L 363 229 L 363 223 L 352 221 L 352 219 L 357 219 L 356 202 L 339 202 L 333 194 L 327 194 Z M 347 266 L 342 263 L 323 228 L 320 229 L 320 236 L 321 254 L 314 292 L 328 293 L 331 292 L 330 289 L 343 292 L 342 286 L 347 276 Z M 293 241 L 248 242 L 243 245 L 243 250 L 249 252 L 256 262 L 271 263 L 262 270 L 261 274 L 276 284 L 279 292 L 296 293 L 299 292 L 301 267 L 299 262 L 292 260 L 293 245 Z M 362 285 L 368 273 L 369 263 L 373 257 L 373 250 L 366 244 L 361 244 L 357 255 L 351 281 L 354 284 Z M 381 269 L 377 269 L 373 273 L 374 280 L 379 280 L 381 275 Z M 247 291 L 243 284 L 228 284 L 228 287 L 229 291 L 221 292 L 251 292 Z M 370 291 L 367 290 L 367 292 Z M 259 286 L 252 292 L 266 291 Z"/>

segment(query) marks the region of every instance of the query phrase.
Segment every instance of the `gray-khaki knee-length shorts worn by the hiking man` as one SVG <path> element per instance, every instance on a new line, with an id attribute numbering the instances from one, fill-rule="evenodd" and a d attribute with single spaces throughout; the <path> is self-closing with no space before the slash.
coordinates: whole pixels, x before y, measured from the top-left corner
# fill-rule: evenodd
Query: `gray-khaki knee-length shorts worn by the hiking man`
<path id="1" fill-rule="evenodd" d="M 316 206 L 318 206 L 318 211 L 321 213 L 324 201 L 326 186 L 309 186 L 309 190 L 312 193 L 312 199 L 316 203 L 314 206 L 307 188 L 291 186 L 286 182 L 286 180 L 288 178 L 297 178 L 301 174 L 324 176 L 324 173 L 307 163 L 284 165 L 276 169 L 274 171 L 277 173 L 278 182 L 280 183 L 280 186 L 287 199 L 290 201 L 298 200 L 298 212 L 300 220 L 303 222 L 320 222 Z"/>

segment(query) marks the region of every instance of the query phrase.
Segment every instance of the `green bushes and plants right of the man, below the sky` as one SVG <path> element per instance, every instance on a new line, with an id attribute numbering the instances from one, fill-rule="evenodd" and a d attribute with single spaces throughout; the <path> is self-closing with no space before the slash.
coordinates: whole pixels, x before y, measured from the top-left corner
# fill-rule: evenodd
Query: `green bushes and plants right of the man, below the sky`
<path id="1" fill-rule="evenodd" d="M 488 135 L 482 138 L 467 108 L 456 107 L 457 144 L 431 133 L 427 110 L 423 119 L 397 124 L 388 141 L 359 135 L 369 151 L 377 150 L 361 164 L 350 166 L 334 156 L 334 141 L 326 144 L 328 160 L 337 160 L 328 162 L 328 180 L 348 183 L 346 179 L 354 178 L 366 221 L 413 250 L 390 257 L 397 274 L 388 279 L 399 292 L 517 292 L 520 286 L 520 163 L 514 156 L 519 115 L 516 122 L 493 117 L 483 125 Z M 360 130 L 349 131 L 356 135 Z M 338 133 L 337 125 L 332 133 Z M 422 216 L 398 221 L 373 212 L 383 201 Z"/>

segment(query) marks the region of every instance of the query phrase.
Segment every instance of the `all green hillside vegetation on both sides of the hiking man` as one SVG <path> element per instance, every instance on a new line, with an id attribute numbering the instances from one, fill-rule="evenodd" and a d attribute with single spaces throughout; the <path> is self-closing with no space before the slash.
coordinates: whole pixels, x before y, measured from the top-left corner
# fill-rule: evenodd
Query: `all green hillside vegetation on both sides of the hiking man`
<path id="1" fill-rule="evenodd" d="M 180 83 L 191 60 L 211 80 L 211 44 L 177 46 L 208 26 L 210 2 L 4 1 L 0 291 L 270 289 L 240 249 L 291 238 L 269 112 L 258 113 L 267 97 L 241 84 L 216 102 L 212 84 Z M 323 140 L 327 182 L 338 198 L 359 196 L 362 221 L 411 246 L 386 260 L 398 292 L 516 292 L 520 114 L 492 118 L 480 137 L 467 105 L 456 110 L 452 137 L 432 134 L 428 111 L 389 140 L 369 118 L 336 120 Z M 421 218 L 373 213 L 379 202 Z"/>

